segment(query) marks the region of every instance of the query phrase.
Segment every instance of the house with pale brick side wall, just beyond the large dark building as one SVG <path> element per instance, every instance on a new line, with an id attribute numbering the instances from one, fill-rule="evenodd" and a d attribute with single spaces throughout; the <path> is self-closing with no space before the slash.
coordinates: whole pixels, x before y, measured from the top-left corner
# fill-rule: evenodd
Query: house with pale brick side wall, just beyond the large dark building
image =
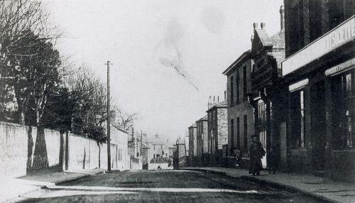
<path id="1" fill-rule="evenodd" d="M 222 146 L 228 143 L 226 100 L 210 103 L 207 110 L 207 138 L 209 164 L 222 164 Z"/>

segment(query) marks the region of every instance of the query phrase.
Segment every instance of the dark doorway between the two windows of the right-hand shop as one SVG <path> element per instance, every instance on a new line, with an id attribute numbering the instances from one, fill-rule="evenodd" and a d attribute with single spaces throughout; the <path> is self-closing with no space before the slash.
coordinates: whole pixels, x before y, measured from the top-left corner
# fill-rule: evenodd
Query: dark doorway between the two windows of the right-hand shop
<path id="1" fill-rule="evenodd" d="M 311 87 L 311 133 L 312 133 L 312 170 L 325 168 L 325 85 L 317 82 Z"/>

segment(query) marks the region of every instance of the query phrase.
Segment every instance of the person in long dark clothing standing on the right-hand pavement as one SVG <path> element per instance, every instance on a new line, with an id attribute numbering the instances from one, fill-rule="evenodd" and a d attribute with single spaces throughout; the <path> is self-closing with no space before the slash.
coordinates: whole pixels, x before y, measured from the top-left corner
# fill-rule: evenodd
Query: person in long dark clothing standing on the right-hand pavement
<path id="1" fill-rule="evenodd" d="M 258 142 L 257 136 L 253 136 L 253 142 L 251 143 L 249 152 L 249 173 L 253 173 L 253 175 L 260 175 L 260 171 L 263 169 L 263 165 L 261 164 L 261 158 L 263 158 L 263 156 L 265 155 L 265 150 L 261 146 L 261 143 Z"/>

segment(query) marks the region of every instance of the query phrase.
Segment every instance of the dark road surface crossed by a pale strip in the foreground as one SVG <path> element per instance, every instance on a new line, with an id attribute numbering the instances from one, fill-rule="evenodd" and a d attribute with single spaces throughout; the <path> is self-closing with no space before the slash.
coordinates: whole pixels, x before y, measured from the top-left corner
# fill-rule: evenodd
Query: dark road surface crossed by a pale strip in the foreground
<path id="1" fill-rule="evenodd" d="M 238 178 L 184 170 L 110 172 L 26 194 L 22 202 L 317 202 Z"/>

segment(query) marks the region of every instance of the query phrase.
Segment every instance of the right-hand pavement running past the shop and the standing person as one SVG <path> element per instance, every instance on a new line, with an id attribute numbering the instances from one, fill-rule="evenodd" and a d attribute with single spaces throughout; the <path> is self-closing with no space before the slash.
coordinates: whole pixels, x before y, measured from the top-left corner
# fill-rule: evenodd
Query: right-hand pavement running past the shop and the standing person
<path id="1" fill-rule="evenodd" d="M 185 170 L 197 170 L 214 172 L 230 177 L 241 177 L 244 180 L 259 182 L 262 184 L 282 187 L 286 190 L 302 192 L 317 197 L 324 202 L 355 202 L 355 184 L 348 182 L 334 182 L 324 177 L 304 175 L 296 173 L 276 172 L 275 175 L 268 174 L 268 171 L 261 171 L 260 176 L 249 175 L 248 170 L 222 167 L 206 168 L 182 168 Z"/>

